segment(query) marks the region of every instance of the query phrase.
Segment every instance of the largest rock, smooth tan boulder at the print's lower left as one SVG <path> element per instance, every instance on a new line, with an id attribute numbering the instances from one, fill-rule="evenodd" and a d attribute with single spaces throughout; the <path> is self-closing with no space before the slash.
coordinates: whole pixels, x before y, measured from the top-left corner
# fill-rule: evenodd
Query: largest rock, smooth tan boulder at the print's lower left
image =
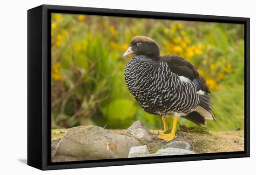
<path id="1" fill-rule="evenodd" d="M 130 148 L 140 145 L 135 138 L 99 126 L 78 126 L 61 138 L 52 161 L 126 158 Z"/>

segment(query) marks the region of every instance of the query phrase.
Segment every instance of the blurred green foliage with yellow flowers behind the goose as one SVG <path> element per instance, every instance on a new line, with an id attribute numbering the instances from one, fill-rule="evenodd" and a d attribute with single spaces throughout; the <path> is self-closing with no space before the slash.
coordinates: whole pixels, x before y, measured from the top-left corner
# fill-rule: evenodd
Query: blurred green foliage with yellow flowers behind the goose
<path id="1" fill-rule="evenodd" d="M 209 130 L 243 128 L 243 25 L 58 13 L 51 24 L 52 128 L 126 129 L 136 120 L 162 128 L 161 117 L 143 111 L 124 81 L 122 55 L 135 35 L 153 38 L 161 54 L 183 56 L 198 68 L 216 112 Z"/>

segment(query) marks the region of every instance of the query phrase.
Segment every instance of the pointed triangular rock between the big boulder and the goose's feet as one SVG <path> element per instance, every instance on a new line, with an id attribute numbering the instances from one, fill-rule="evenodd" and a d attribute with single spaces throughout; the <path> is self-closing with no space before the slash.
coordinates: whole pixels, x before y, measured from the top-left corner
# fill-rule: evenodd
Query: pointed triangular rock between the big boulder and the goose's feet
<path id="1" fill-rule="evenodd" d="M 139 140 L 152 141 L 152 134 L 148 128 L 139 120 L 135 121 L 127 130 L 128 136 L 134 137 Z"/>

